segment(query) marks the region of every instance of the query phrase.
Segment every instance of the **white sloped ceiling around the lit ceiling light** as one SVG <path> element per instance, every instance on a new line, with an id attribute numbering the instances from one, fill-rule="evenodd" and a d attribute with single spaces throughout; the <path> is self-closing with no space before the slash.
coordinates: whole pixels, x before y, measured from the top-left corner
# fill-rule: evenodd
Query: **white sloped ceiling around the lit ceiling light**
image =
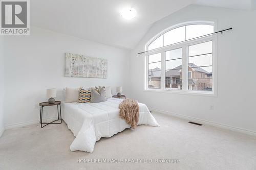
<path id="1" fill-rule="evenodd" d="M 248 8 L 251 0 L 32 0 L 31 25 L 104 44 L 134 48 L 155 21 L 190 4 Z M 215 3 L 213 3 L 215 2 Z M 244 2 L 244 3 L 241 3 Z M 234 5 L 236 4 L 236 5 Z M 120 17 L 133 7 L 136 18 Z"/>

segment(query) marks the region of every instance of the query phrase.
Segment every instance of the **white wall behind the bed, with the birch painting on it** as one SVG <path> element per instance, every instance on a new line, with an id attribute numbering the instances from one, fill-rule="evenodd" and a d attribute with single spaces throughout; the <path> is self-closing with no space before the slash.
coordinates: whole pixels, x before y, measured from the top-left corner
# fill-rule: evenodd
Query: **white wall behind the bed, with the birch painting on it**
<path id="1" fill-rule="evenodd" d="M 36 27 L 30 36 L 5 38 L 5 125 L 31 124 L 39 120 L 38 103 L 46 101 L 46 89 L 57 88 L 63 101 L 64 87 L 123 86 L 128 94 L 129 52 Z M 108 59 L 108 78 L 66 78 L 65 52 Z M 44 108 L 47 117 L 56 108 Z M 25 123 L 25 124 L 24 124 Z"/>

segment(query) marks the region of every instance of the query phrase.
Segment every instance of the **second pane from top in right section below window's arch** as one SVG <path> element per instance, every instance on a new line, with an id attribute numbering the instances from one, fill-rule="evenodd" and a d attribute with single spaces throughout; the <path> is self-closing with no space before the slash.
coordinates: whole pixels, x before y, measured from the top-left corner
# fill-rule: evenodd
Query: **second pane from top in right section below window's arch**
<path id="1" fill-rule="evenodd" d="M 195 64 L 196 66 L 212 65 L 212 54 L 188 57 L 188 63 Z"/>

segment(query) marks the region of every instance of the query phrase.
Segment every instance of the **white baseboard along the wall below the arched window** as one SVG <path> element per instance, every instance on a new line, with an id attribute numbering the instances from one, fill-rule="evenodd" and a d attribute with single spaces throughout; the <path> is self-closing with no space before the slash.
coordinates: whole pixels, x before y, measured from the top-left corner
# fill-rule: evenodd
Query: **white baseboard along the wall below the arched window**
<path id="1" fill-rule="evenodd" d="M 241 132 L 241 133 L 245 133 L 245 134 L 248 134 L 248 135 L 256 136 L 256 132 L 251 131 L 251 130 L 241 129 L 241 128 L 232 127 L 232 126 L 228 126 L 228 125 L 223 125 L 223 124 L 219 124 L 219 123 L 215 123 L 215 122 L 210 122 L 208 120 L 203 120 L 203 119 L 194 118 L 194 117 L 190 117 L 190 116 L 186 116 L 186 115 L 182 115 L 182 114 L 177 114 L 177 113 L 172 113 L 172 112 L 168 112 L 168 111 L 158 110 L 158 109 L 154 109 L 154 108 L 148 108 L 148 109 L 150 109 L 153 112 L 155 111 L 155 112 L 161 113 L 161 114 L 172 115 L 172 116 L 179 117 L 179 118 L 186 119 L 186 120 L 190 120 L 190 121 L 193 121 L 193 122 L 196 122 L 196 123 L 215 126 L 215 127 L 219 127 L 219 128 L 222 128 L 222 129 L 227 129 L 227 130 L 231 130 L 231 131 L 236 131 L 236 132 Z"/>

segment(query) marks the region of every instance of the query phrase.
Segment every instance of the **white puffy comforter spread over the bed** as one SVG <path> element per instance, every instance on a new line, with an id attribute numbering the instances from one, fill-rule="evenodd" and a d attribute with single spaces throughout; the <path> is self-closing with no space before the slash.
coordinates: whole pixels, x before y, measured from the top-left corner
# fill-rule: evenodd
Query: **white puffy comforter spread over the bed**
<path id="1" fill-rule="evenodd" d="M 101 137 L 111 137 L 131 126 L 119 117 L 118 106 L 122 100 L 110 98 L 100 103 L 63 103 L 63 120 L 76 138 L 71 151 L 93 152 L 95 142 Z M 145 104 L 139 103 L 138 125 L 159 126 Z"/>

